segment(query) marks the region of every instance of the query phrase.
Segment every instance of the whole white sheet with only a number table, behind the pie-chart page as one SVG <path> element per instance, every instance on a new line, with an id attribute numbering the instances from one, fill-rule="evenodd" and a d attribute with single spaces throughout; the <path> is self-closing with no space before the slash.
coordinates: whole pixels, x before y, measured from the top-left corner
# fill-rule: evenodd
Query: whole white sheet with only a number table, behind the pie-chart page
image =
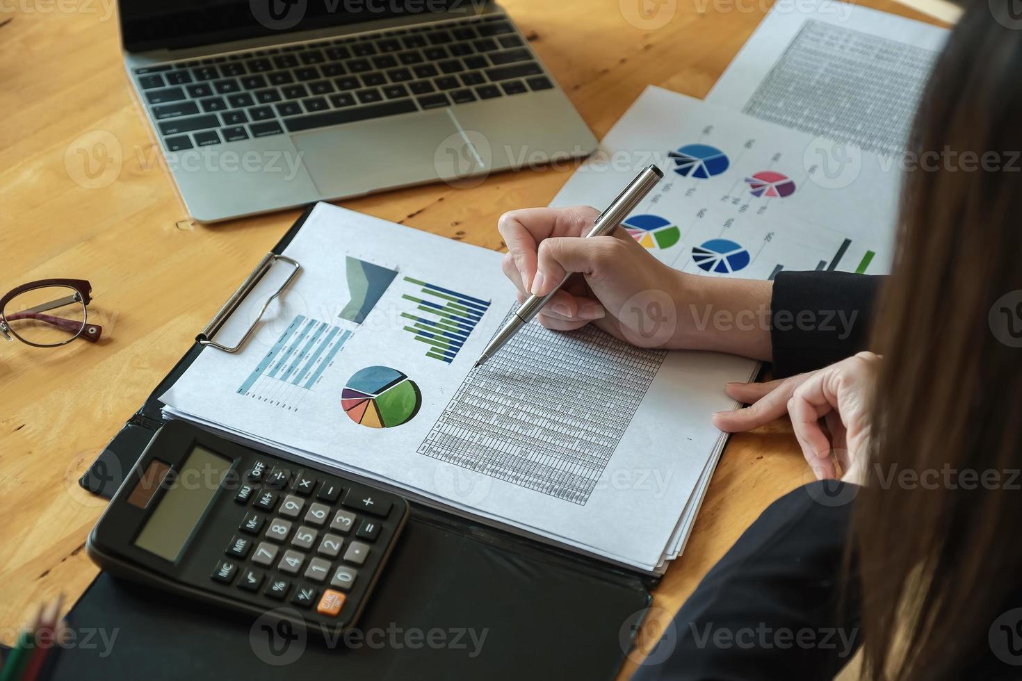
<path id="1" fill-rule="evenodd" d="M 945 29 L 836 0 L 781 0 L 706 101 L 900 154 L 946 37 Z"/>

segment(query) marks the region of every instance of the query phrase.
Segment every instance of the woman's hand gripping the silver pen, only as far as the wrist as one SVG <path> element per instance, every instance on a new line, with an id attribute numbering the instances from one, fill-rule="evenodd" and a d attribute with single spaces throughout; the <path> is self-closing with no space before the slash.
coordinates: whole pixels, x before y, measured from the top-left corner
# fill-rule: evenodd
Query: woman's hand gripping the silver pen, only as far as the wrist
<path id="1" fill-rule="evenodd" d="M 678 309 L 686 276 L 663 264 L 618 228 L 612 236 L 579 239 L 599 211 L 589 206 L 523 208 L 497 225 L 508 253 L 504 274 L 518 301 L 546 295 L 566 274 L 579 273 L 539 314 L 548 329 L 572 331 L 596 324 L 644 347 L 681 347 Z"/>

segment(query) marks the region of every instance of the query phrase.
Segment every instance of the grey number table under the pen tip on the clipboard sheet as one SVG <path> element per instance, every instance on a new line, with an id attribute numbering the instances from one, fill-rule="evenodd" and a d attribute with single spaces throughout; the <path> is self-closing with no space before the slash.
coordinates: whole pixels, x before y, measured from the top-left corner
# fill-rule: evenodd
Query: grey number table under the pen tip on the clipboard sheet
<path id="1" fill-rule="evenodd" d="M 585 505 L 665 356 L 533 321 L 469 373 L 419 453 Z"/>

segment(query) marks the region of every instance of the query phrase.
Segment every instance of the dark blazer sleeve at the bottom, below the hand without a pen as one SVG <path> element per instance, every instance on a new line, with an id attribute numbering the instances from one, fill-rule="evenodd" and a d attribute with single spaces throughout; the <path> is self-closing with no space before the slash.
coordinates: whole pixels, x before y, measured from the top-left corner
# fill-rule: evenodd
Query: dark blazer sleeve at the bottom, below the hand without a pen
<path id="1" fill-rule="evenodd" d="M 775 501 L 703 578 L 633 681 L 833 678 L 862 638 L 853 568 L 842 581 L 857 490 L 819 481 Z"/>

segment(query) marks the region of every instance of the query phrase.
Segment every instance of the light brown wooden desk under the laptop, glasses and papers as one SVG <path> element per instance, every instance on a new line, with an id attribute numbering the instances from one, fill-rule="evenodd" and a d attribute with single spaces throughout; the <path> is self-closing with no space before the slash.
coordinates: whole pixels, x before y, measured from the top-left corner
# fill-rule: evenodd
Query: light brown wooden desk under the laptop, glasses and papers
<path id="1" fill-rule="evenodd" d="M 649 84 L 703 97 L 766 8 L 765 0 L 667 0 L 660 6 L 673 11 L 669 22 L 644 31 L 620 9 L 639 1 L 504 2 L 598 137 Z M 924 18 L 888 0 L 867 4 Z M 36 603 L 63 591 L 67 607 L 96 574 L 85 538 L 104 502 L 80 490 L 78 478 L 298 214 L 213 228 L 188 220 L 130 93 L 110 5 L 0 4 L 0 289 L 89 279 L 90 318 L 105 328 L 98 345 L 0 344 L 7 644 Z M 89 168 L 83 155 L 91 155 Z M 342 204 L 501 249 L 498 216 L 546 205 L 568 176 L 504 173 L 472 189 L 436 184 Z M 760 510 L 805 480 L 786 422 L 734 437 L 685 555 L 657 590 L 655 622 L 668 622 Z"/>

